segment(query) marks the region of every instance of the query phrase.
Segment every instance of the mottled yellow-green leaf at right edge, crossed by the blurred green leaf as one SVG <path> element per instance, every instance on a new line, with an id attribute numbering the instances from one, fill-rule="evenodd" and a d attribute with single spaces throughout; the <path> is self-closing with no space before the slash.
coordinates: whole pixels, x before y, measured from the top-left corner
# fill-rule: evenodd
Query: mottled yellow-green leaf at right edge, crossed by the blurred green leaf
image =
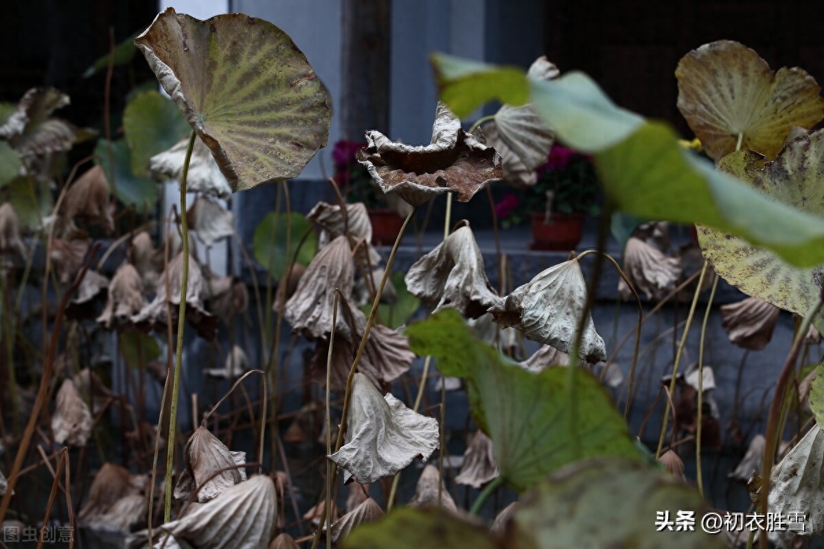
<path id="1" fill-rule="evenodd" d="M 765 216 L 765 212 L 750 210 L 749 216 L 760 219 L 768 232 L 784 233 L 796 226 L 803 235 L 812 220 L 821 226 L 824 218 L 824 131 L 798 137 L 779 153 L 775 161 L 759 167 L 761 155 L 738 151 L 725 156 L 719 170 L 757 188 L 773 203 L 789 204 L 798 212 L 783 217 Z M 747 215 L 742 204 L 742 216 Z M 786 263 L 774 252 L 756 248 L 737 236 L 707 226 L 698 227 L 698 242 L 704 257 L 724 280 L 781 309 L 804 315 L 813 305 L 819 287 L 813 277 L 815 268 L 799 268 Z M 819 240 L 819 249 L 824 248 Z M 817 263 L 824 263 L 815 254 Z"/>

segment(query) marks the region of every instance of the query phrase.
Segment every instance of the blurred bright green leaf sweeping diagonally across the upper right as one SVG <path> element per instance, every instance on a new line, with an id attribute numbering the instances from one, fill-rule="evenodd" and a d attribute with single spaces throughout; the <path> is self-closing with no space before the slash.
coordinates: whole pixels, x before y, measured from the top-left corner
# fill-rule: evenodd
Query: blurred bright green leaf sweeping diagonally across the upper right
<path id="1" fill-rule="evenodd" d="M 454 76 L 461 74 L 454 67 L 458 62 L 450 59 L 445 69 L 438 59 L 433 61 L 447 104 L 474 109 L 498 98 L 498 91 L 478 86 L 474 94 L 456 100 L 463 89 Z M 466 62 L 466 67 L 479 77 L 477 63 Z M 490 68 L 489 75 L 494 74 Z M 513 81 L 509 85 L 515 86 Z M 796 266 L 824 263 L 824 220 L 715 172 L 708 162 L 683 151 L 670 128 L 620 109 L 586 75 L 572 72 L 551 81 L 529 81 L 528 86 L 533 105 L 556 137 L 578 151 L 595 153 L 611 206 L 634 216 L 713 226 L 772 249 Z"/>

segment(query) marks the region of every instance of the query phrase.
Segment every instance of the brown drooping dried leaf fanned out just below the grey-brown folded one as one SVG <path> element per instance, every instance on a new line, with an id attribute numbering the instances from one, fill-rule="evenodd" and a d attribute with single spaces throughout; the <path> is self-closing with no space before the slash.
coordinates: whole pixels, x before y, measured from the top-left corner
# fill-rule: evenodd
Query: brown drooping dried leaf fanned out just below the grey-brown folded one
<path id="1" fill-rule="evenodd" d="M 355 325 L 350 326 L 349 314 L 344 308 L 338 309 L 338 319 L 344 317 L 348 333 L 352 337 L 347 339 L 335 333 L 335 346 L 332 349 L 332 372 L 330 381 L 333 391 L 341 391 L 346 387 L 346 379 L 355 352 L 360 343 L 360 337 L 366 329 L 366 315 L 356 307 L 349 307 Z M 311 370 L 321 385 L 326 383 L 326 363 L 329 355 L 329 338 L 317 342 L 317 347 L 311 357 Z M 363 355 L 358 362 L 358 371 L 365 375 L 376 387 L 385 387 L 394 379 L 410 369 L 414 361 L 414 352 L 410 351 L 409 340 L 396 330 L 386 328 L 381 324 L 372 326 L 369 339 L 363 349 Z"/>

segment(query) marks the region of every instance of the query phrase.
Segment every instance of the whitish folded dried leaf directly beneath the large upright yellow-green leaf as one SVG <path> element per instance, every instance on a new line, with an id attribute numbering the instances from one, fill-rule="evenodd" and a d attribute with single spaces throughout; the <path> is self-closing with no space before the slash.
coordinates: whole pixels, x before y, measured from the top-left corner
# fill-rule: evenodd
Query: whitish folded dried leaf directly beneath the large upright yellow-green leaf
<path id="1" fill-rule="evenodd" d="M 180 179 L 189 137 L 177 142 L 168 151 L 152 156 L 149 160 L 149 172 L 159 181 Z M 212 151 L 197 138 L 189 161 L 189 173 L 186 174 L 186 188 L 190 193 L 204 193 L 218 198 L 230 198 L 232 188 L 218 168 Z"/>

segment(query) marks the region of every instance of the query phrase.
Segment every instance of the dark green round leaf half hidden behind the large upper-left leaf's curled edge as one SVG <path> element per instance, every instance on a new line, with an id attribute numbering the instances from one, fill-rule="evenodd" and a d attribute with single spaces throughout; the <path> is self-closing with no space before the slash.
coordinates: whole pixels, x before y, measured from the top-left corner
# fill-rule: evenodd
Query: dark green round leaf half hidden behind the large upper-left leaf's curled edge
<path id="1" fill-rule="evenodd" d="M 144 91 L 123 111 L 123 131 L 132 156 L 132 173 L 148 175 L 152 156 L 174 147 L 191 132 L 180 109 L 157 90 Z"/>

